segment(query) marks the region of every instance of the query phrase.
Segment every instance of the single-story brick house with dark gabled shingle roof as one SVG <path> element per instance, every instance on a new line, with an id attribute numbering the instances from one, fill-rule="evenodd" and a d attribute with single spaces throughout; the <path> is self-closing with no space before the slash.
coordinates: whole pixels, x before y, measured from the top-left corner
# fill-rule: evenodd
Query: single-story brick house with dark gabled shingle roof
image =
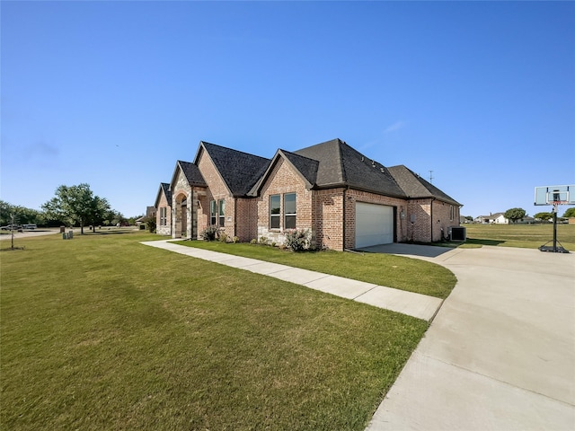
<path id="1" fill-rule="evenodd" d="M 307 229 L 314 247 L 342 251 L 435 242 L 459 225 L 459 204 L 400 165 L 386 168 L 340 139 L 271 159 L 200 142 L 155 200 L 157 233 L 199 238 L 209 225 L 248 242 L 281 243 Z"/>

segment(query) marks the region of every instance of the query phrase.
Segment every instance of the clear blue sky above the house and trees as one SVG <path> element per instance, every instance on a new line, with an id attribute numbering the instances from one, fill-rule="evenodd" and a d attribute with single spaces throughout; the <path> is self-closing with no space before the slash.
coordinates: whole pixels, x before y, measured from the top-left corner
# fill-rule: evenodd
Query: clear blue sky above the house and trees
<path id="1" fill-rule="evenodd" d="M 154 205 L 200 140 L 335 137 L 464 204 L 575 184 L 573 2 L 0 2 L 0 198 Z M 430 171 L 432 171 L 430 173 Z M 560 215 L 567 207 L 560 209 Z"/>

